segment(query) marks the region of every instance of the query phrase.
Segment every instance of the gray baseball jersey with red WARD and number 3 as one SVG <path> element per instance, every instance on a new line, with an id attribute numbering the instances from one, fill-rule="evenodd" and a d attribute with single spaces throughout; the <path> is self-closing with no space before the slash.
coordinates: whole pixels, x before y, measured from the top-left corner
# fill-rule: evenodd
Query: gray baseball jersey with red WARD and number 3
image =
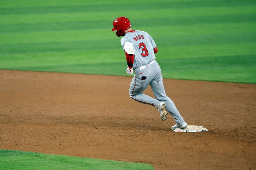
<path id="1" fill-rule="evenodd" d="M 132 30 L 127 32 L 121 39 L 121 45 L 124 50 L 124 43 L 131 42 L 134 50 L 133 70 L 144 66 L 155 60 L 154 49 L 156 43 L 153 38 L 145 31 Z"/>

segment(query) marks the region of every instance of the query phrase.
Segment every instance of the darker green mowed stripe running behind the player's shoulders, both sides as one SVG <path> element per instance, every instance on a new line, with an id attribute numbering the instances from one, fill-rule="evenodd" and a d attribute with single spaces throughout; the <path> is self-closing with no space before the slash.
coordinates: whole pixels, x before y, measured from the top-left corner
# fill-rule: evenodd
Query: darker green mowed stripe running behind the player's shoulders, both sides
<path id="1" fill-rule="evenodd" d="M 114 35 L 113 35 L 114 36 Z M 87 50 L 108 50 L 121 49 L 120 42 L 116 40 L 85 40 L 85 41 L 69 41 L 69 42 L 46 42 L 46 43 L 18 43 L 18 44 L 1 44 L 0 54 L 15 53 L 43 53 L 51 51 L 87 51 Z M 244 34 L 217 34 L 217 35 L 201 35 L 201 36 L 175 36 L 156 37 L 158 47 L 168 46 L 189 46 L 189 45 L 213 45 L 213 44 L 236 44 L 243 42 L 256 42 L 256 33 Z"/>

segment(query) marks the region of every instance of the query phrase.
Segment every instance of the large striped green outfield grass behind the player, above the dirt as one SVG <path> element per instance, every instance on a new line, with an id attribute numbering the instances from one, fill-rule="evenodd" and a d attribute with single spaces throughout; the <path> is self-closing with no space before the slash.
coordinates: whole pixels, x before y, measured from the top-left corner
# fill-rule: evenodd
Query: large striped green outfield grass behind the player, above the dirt
<path id="1" fill-rule="evenodd" d="M 126 16 L 156 41 L 164 78 L 256 83 L 255 0 L 38 2 L 0 2 L 0 69 L 129 76 L 111 32 Z"/>

